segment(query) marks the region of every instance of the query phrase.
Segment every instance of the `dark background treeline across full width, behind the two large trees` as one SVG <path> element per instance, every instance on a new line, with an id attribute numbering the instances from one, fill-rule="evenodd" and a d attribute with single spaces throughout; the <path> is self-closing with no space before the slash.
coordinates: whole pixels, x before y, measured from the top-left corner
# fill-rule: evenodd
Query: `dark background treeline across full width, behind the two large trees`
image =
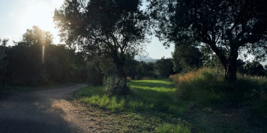
<path id="1" fill-rule="evenodd" d="M 0 40 L 1 85 L 42 85 L 53 82 L 88 82 L 99 85 L 108 75 L 116 73 L 116 65 L 109 56 L 85 56 L 82 52 L 55 45 L 52 34 L 39 27 L 28 29 L 19 42 L 7 47 L 7 39 Z M 197 47 L 189 40 L 176 45 L 171 58 L 156 62 L 134 60 L 126 54 L 123 71 L 128 79 L 161 79 L 176 73 L 186 73 L 202 67 L 223 70 L 218 57 L 209 47 Z M 258 61 L 236 62 L 237 71 L 243 75 L 267 76 Z M 267 66 L 265 66 L 267 69 Z"/>

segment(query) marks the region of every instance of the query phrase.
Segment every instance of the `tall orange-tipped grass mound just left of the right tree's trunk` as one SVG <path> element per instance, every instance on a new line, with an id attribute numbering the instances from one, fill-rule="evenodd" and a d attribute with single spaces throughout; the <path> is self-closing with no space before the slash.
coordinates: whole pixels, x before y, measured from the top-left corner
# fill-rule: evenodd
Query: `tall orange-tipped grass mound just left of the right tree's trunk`
<path id="1" fill-rule="evenodd" d="M 211 69 L 177 74 L 172 80 L 176 82 L 179 97 L 199 103 L 222 100 L 219 92 L 226 86 L 221 75 L 213 73 Z"/>

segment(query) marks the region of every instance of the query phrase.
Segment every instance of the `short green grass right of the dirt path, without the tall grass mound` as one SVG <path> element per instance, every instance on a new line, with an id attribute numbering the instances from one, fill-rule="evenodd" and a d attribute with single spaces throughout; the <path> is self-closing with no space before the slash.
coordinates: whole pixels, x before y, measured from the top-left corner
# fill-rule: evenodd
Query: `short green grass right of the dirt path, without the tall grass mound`
<path id="1" fill-rule="evenodd" d="M 128 86 L 129 95 L 111 97 L 102 86 L 87 86 L 75 93 L 75 99 L 125 115 L 121 121 L 130 124 L 125 127 L 130 133 L 266 133 L 265 118 L 251 114 L 248 105 L 185 101 L 169 80 L 131 80 Z"/>

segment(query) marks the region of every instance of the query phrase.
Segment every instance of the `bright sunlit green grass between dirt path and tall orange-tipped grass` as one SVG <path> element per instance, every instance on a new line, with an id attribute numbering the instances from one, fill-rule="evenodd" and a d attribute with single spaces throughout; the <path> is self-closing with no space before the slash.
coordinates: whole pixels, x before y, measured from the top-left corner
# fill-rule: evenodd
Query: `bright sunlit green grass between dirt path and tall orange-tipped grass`
<path id="1" fill-rule="evenodd" d="M 176 89 L 168 80 L 132 80 L 128 85 L 131 94 L 127 96 L 107 96 L 101 86 L 83 87 L 76 95 L 86 104 L 111 111 L 157 110 L 180 114 L 188 109 L 188 105 L 176 99 Z"/>

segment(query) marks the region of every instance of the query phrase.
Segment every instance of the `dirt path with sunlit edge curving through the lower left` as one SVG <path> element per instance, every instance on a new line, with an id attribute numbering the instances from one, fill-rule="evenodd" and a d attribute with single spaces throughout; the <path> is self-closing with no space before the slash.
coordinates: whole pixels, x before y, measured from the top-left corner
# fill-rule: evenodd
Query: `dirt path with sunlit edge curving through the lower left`
<path id="1" fill-rule="evenodd" d="M 19 93 L 0 101 L 0 133 L 84 133 L 79 110 L 67 101 L 85 84 Z"/>

